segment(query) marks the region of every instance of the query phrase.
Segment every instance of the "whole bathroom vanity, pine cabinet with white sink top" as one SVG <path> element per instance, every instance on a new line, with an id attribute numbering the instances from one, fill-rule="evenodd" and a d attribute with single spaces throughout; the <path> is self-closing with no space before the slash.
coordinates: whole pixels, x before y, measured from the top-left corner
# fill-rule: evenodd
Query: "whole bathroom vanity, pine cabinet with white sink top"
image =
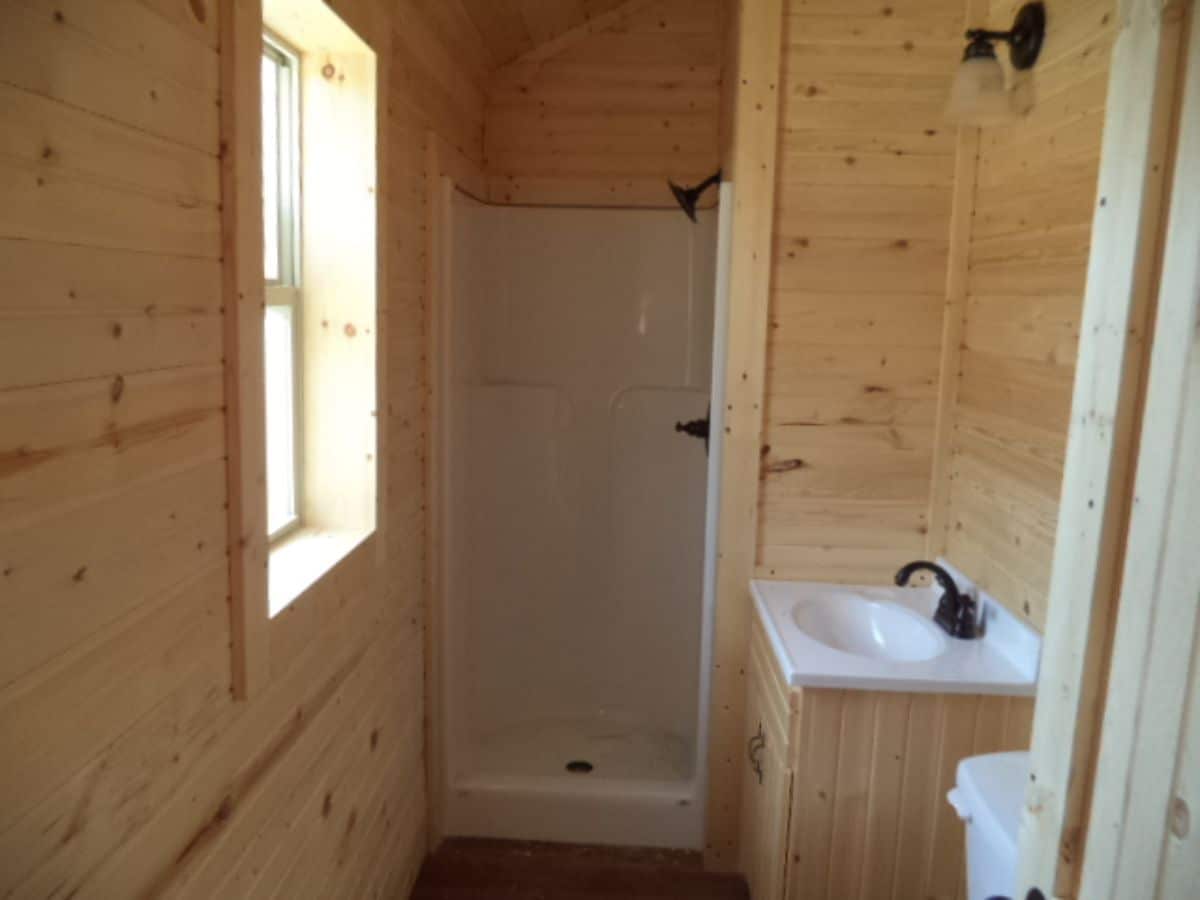
<path id="1" fill-rule="evenodd" d="M 959 760 L 1026 749 L 1039 640 L 988 598 L 984 637 L 938 592 L 756 581 L 742 864 L 754 900 L 956 898 Z"/>

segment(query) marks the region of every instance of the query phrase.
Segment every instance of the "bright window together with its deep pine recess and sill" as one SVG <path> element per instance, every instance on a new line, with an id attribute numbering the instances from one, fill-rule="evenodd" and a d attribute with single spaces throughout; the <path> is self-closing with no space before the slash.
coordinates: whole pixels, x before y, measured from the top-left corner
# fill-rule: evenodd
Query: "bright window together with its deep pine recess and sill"
<path id="1" fill-rule="evenodd" d="M 270 0 L 263 11 L 254 353 L 266 478 L 254 502 L 265 505 L 275 618 L 298 601 L 334 602 L 324 576 L 376 530 L 377 67 L 324 0 Z M 360 559 L 378 552 L 372 544 Z"/>

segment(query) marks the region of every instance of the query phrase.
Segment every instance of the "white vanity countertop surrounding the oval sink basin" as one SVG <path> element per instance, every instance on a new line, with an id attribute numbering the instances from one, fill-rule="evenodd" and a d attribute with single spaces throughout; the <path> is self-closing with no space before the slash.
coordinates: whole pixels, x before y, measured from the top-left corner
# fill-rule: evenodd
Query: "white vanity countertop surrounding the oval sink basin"
<path id="1" fill-rule="evenodd" d="M 944 562 L 943 562 L 944 565 Z M 965 581 L 953 568 L 946 566 Z M 853 593 L 902 606 L 931 619 L 936 588 L 826 584 L 821 582 L 750 582 L 755 607 L 788 684 L 794 688 L 845 688 L 914 694 L 998 694 L 1033 696 L 1042 640 L 986 594 L 979 594 L 985 632 L 961 641 L 949 635 L 946 649 L 922 661 L 870 659 L 829 647 L 805 634 L 793 618 L 798 602 L 823 594 Z"/>

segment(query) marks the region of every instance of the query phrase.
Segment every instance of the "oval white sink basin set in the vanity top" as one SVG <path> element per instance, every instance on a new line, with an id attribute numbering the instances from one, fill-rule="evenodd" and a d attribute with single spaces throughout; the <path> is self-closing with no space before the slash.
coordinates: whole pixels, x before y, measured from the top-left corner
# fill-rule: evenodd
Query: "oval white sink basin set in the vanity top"
<path id="1" fill-rule="evenodd" d="M 896 604 L 848 592 L 802 600 L 792 618 L 814 641 L 856 656 L 920 662 L 946 649 L 946 638 L 931 620 Z"/>

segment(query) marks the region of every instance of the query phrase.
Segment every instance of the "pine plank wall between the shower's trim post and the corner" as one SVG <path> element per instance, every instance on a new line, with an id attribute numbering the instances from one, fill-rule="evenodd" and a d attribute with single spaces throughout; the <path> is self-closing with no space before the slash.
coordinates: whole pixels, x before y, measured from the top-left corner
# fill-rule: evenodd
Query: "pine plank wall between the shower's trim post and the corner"
<path id="1" fill-rule="evenodd" d="M 787 4 L 758 575 L 875 582 L 924 552 L 964 16 Z"/>

